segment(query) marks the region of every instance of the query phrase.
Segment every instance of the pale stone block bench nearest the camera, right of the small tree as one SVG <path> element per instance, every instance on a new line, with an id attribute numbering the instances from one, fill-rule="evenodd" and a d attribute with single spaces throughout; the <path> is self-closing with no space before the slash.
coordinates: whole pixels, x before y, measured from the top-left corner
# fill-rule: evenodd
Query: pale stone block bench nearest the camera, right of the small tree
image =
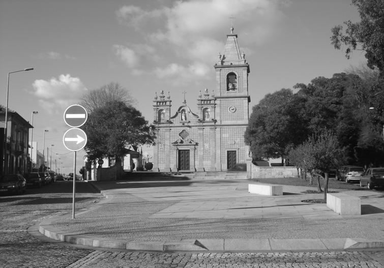
<path id="1" fill-rule="evenodd" d="M 327 207 L 340 215 L 361 215 L 360 198 L 344 193 L 327 193 Z"/>

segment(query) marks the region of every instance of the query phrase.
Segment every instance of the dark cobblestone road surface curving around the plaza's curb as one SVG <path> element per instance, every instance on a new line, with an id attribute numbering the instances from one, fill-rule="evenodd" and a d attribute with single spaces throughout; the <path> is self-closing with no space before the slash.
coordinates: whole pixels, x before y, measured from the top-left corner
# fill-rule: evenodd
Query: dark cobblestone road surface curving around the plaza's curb
<path id="1" fill-rule="evenodd" d="M 0 267 L 384 267 L 384 251 L 310 253 L 128 252 L 78 248 L 46 242 L 26 230 L 50 217 L 71 212 L 72 184 L 58 182 L 0 196 Z M 77 187 L 77 209 L 100 200 L 88 184 Z"/>

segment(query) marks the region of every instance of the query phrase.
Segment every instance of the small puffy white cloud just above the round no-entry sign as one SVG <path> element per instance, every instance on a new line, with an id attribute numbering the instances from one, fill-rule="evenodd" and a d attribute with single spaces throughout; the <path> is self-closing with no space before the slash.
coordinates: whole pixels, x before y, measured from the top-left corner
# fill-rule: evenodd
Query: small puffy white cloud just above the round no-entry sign
<path id="1" fill-rule="evenodd" d="M 78 103 L 87 91 L 80 79 L 71 77 L 70 74 L 62 74 L 57 79 L 52 77 L 49 81 L 35 80 L 32 85 L 41 107 L 48 111 Z"/>

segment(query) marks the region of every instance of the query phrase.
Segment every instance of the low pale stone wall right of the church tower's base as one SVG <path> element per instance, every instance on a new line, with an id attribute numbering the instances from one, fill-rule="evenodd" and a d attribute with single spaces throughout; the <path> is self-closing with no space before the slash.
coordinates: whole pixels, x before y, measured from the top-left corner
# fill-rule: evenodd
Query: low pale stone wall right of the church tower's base
<path id="1" fill-rule="evenodd" d="M 247 162 L 247 178 L 284 178 L 297 177 L 296 167 L 259 167 Z"/>

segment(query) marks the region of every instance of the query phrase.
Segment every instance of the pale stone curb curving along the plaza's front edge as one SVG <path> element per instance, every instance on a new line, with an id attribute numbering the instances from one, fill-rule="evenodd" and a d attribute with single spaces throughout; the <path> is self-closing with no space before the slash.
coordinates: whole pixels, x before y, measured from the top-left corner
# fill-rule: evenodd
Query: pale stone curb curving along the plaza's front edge
<path id="1" fill-rule="evenodd" d="M 384 241 L 340 239 L 182 239 L 177 241 L 123 241 L 74 235 L 53 228 L 50 220 L 40 223 L 39 232 L 57 241 L 97 248 L 144 251 L 328 251 L 384 248 Z"/>

